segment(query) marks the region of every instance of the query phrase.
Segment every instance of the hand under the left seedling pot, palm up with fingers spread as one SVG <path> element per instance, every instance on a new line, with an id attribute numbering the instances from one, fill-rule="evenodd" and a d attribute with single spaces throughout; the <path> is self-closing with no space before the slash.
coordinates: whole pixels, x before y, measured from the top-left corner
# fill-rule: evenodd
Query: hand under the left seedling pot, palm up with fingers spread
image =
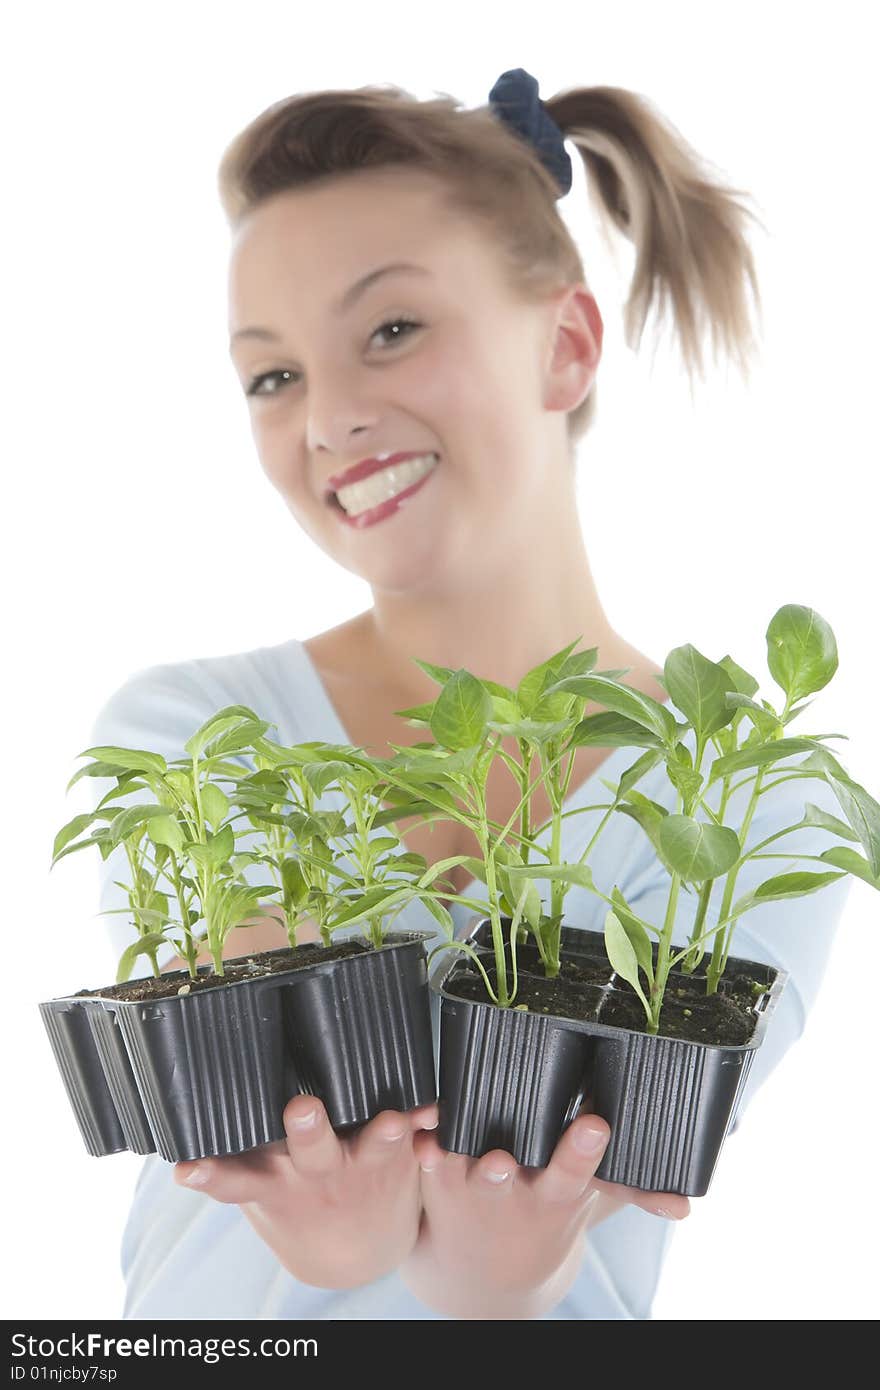
<path id="1" fill-rule="evenodd" d="M 296 1279 L 355 1289 L 396 1269 L 416 1244 L 421 1204 L 413 1140 L 437 1123 L 437 1105 L 382 1111 L 339 1138 L 323 1104 L 298 1095 L 284 1112 L 286 1140 L 177 1163 L 174 1180 L 236 1202 Z"/>

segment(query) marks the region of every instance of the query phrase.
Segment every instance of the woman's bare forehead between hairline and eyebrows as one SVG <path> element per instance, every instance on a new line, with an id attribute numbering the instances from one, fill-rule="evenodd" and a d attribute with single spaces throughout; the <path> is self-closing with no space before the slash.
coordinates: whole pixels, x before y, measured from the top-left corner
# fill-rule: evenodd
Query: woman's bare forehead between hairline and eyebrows
<path id="1" fill-rule="evenodd" d="M 414 261 L 438 275 L 485 278 L 495 257 L 475 222 L 448 204 L 443 185 L 409 170 L 366 170 L 277 193 L 236 229 L 229 303 L 250 310 L 286 288 L 338 299 L 359 275 L 388 261 Z"/>

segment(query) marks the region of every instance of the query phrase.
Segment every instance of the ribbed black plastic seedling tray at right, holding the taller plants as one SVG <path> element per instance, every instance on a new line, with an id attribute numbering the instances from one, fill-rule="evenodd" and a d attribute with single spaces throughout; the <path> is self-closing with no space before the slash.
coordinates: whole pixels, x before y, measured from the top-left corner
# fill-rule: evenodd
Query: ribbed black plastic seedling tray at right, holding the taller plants
<path id="1" fill-rule="evenodd" d="M 510 919 L 502 920 L 509 929 Z M 480 920 L 468 940 L 487 948 L 489 920 Z M 459 952 L 441 958 L 431 980 L 441 999 L 441 1147 L 474 1158 L 503 1148 L 517 1163 L 545 1168 L 588 1098 L 610 1126 L 598 1177 L 705 1195 L 787 972 L 730 956 L 727 977 L 741 972 L 770 988 L 755 1004 L 747 1042 L 710 1045 L 602 1022 L 633 990 L 614 976 L 601 933 L 563 927 L 562 956 L 605 965 L 603 983 L 563 987 L 591 1002 L 587 1020 L 500 1009 L 485 994 L 473 1002 L 456 998 L 449 984 L 475 967 Z M 494 956 L 481 949 L 481 959 L 488 969 Z M 517 951 L 517 965 L 524 976 L 544 973 L 532 942 Z M 670 973 L 667 999 L 677 983 L 690 987 L 692 977 Z M 730 987 L 724 977 L 722 984 Z M 701 1006 L 698 998 L 687 1002 Z"/>

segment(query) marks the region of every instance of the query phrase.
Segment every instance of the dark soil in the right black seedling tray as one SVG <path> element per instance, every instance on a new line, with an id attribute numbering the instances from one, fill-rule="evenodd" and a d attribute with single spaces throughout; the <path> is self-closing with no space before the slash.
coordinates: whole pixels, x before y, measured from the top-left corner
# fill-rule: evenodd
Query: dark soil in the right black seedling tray
<path id="1" fill-rule="evenodd" d="M 495 986 L 495 970 L 487 973 Z M 648 1019 L 641 999 L 626 986 L 605 987 L 592 983 L 601 962 L 580 958 L 562 962 L 560 976 L 546 980 L 539 974 L 520 972 L 516 1004 L 527 1005 L 530 1013 L 548 1013 L 562 1019 L 588 1023 L 608 1023 L 635 1033 L 648 1031 Z M 608 967 L 605 969 L 608 980 Z M 705 976 L 673 973 L 666 986 L 660 1011 L 659 1037 L 683 1038 L 688 1042 L 708 1042 L 715 1047 L 741 1047 L 752 1037 L 758 1013 L 758 991 L 748 976 L 722 979 L 717 994 L 706 995 Z M 758 981 L 763 988 L 765 981 Z M 446 994 L 460 999 L 488 1002 L 482 976 L 470 966 L 456 972 L 443 986 Z"/>

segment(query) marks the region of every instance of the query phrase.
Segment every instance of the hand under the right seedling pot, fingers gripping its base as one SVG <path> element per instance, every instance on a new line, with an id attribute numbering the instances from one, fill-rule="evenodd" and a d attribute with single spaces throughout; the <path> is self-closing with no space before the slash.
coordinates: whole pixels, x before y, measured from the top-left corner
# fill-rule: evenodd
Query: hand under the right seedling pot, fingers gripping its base
<path id="1" fill-rule="evenodd" d="M 539 1318 L 577 1277 L 588 1227 L 627 1202 L 687 1216 L 687 1197 L 594 1176 L 609 1134 L 598 1115 L 580 1115 L 538 1170 L 503 1150 L 448 1154 L 432 1134 L 418 1134 L 424 1215 L 400 1268 L 410 1291 L 450 1318 Z"/>

